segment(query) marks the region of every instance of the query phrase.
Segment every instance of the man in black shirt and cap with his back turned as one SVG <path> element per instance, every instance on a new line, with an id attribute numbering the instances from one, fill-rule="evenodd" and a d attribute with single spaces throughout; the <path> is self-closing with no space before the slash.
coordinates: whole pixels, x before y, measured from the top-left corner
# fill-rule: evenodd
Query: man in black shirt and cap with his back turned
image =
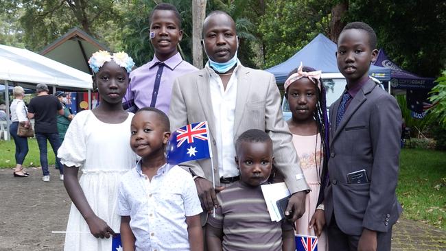
<path id="1" fill-rule="evenodd" d="M 57 151 L 60 147 L 59 134 L 57 129 L 56 113 L 64 114 L 62 104 L 54 95 L 48 95 L 48 86 L 46 84 L 38 84 L 36 86 L 37 96 L 33 97 L 28 106 L 28 118 L 34 118 L 34 132 L 40 152 L 40 165 L 42 165 L 43 178 L 45 182 L 49 182 L 48 156 L 47 156 L 47 140 L 53 148 L 56 162 L 59 166 L 60 180 L 63 180 L 64 173 L 60 160 L 57 158 Z"/>

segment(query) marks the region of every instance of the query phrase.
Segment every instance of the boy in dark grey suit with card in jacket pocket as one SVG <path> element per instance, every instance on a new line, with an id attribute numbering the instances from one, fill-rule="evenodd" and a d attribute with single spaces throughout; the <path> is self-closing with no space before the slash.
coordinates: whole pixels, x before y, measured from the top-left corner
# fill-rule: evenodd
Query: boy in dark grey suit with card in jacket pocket
<path id="1" fill-rule="evenodd" d="M 390 250 L 401 214 L 398 180 L 401 111 L 394 97 L 368 77 L 377 57 L 376 34 L 349 23 L 338 39 L 344 94 L 329 110 L 329 182 L 325 218 L 330 250 Z"/>

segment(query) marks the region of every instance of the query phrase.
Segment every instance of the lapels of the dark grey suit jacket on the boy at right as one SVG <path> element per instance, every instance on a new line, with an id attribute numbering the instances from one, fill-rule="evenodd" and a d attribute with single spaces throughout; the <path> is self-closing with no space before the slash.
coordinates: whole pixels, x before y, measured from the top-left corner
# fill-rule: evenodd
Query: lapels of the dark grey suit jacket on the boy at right
<path id="1" fill-rule="evenodd" d="M 340 121 L 338 128 L 333 129 L 334 134 L 331 142 L 336 140 L 336 137 L 340 134 L 340 132 L 342 132 L 342 129 L 345 127 L 345 125 L 347 125 L 351 116 L 353 116 L 356 110 L 360 108 L 360 106 L 364 103 L 364 101 L 366 101 L 367 99 L 366 95 L 370 93 L 373 90 L 373 88 L 375 88 L 375 86 L 376 86 L 375 82 L 373 82 L 372 80 L 368 80 L 368 82 L 364 86 L 362 86 L 361 90 L 357 92 L 355 97 L 351 100 L 349 107 L 345 111 L 344 117 L 342 117 L 342 120 Z M 332 126 L 334 127 L 336 127 L 336 115 L 338 114 L 338 108 L 339 104 L 337 104 L 336 106 L 336 111 L 335 111 L 336 113 L 333 114 L 335 119 L 333 119 L 334 124 Z"/>

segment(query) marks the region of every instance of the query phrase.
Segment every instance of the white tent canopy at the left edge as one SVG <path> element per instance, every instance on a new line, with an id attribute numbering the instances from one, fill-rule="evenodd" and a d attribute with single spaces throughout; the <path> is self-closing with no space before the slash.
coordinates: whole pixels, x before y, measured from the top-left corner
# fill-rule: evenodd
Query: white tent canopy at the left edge
<path id="1" fill-rule="evenodd" d="M 60 88 L 93 88 L 91 75 L 27 49 L 0 45 L 0 80 L 48 84 Z"/>

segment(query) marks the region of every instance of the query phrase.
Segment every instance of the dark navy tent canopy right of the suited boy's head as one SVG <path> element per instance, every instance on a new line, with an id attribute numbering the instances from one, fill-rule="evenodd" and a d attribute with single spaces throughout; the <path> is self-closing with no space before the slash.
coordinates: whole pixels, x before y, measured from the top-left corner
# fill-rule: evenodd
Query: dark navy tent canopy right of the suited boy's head
<path id="1" fill-rule="evenodd" d="M 374 63 L 376 66 L 390 69 L 392 88 L 397 89 L 428 89 L 434 87 L 434 78 L 419 77 L 408 71 L 401 69 L 395 62 L 392 62 L 384 52 L 384 49 L 379 49 L 377 60 Z"/>

